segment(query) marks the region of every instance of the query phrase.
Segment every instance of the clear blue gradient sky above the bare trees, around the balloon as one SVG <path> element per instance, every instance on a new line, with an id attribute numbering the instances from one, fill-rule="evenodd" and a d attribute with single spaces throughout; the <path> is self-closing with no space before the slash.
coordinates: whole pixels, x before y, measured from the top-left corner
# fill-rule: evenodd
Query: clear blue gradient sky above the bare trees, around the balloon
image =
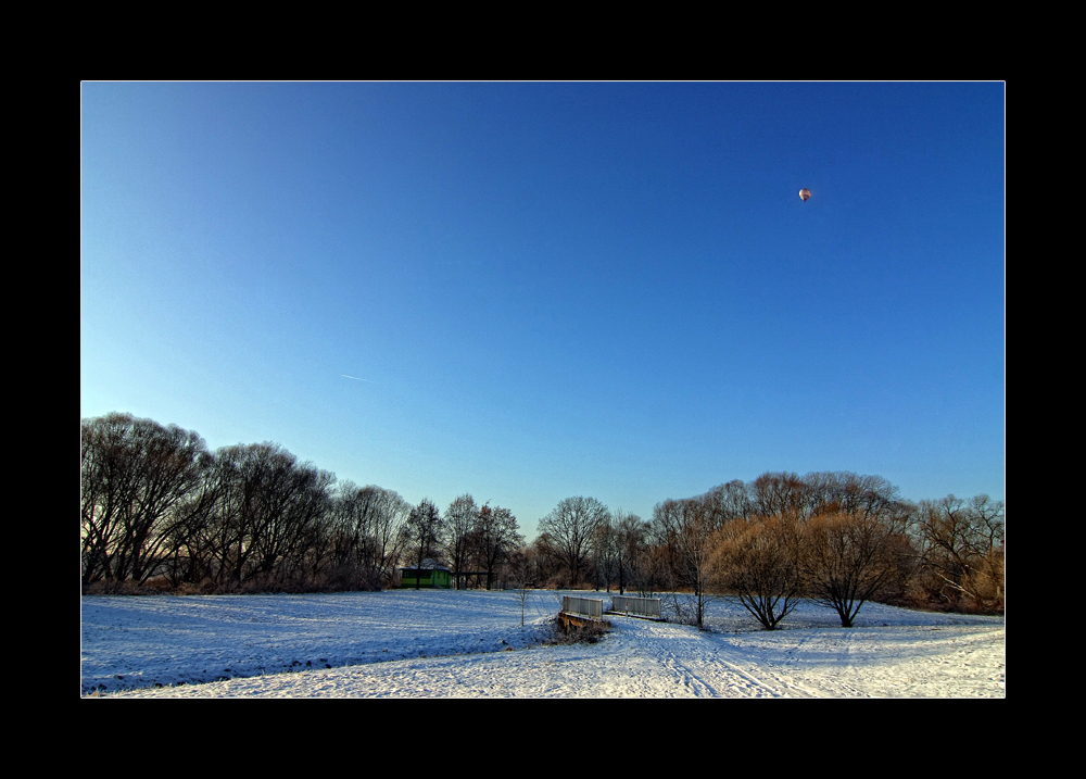
<path id="1" fill-rule="evenodd" d="M 1002 500 L 1003 93 L 86 83 L 80 414 L 529 538 L 767 470 Z"/>

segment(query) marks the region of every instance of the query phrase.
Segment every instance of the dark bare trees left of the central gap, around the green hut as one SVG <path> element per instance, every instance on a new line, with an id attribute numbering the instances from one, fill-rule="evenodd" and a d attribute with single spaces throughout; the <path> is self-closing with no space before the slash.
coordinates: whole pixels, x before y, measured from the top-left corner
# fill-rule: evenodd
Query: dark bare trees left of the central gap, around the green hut
<path id="1" fill-rule="evenodd" d="M 274 443 L 210 452 L 194 432 L 113 413 L 81 428 L 83 583 L 188 591 L 378 589 L 428 561 L 487 574 L 523 545 L 500 506 L 442 516 Z"/>

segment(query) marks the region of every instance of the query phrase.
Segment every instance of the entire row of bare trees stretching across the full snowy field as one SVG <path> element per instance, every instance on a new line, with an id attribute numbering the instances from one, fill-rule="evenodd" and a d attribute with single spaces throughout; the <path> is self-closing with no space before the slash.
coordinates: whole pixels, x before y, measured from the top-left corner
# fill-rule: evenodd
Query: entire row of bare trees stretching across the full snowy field
<path id="1" fill-rule="evenodd" d="M 84 419 L 80 460 L 87 591 L 372 590 L 435 563 L 457 587 L 669 593 L 673 614 L 697 625 L 720 594 L 769 629 L 801 598 L 844 626 L 870 600 L 1003 608 L 1003 504 L 913 503 L 877 476 L 767 473 L 661 501 L 648 520 L 568 498 L 527 543 L 509 510 L 470 494 L 444 511 L 411 505 L 275 443 L 211 452 L 194 432 L 129 414 Z"/>

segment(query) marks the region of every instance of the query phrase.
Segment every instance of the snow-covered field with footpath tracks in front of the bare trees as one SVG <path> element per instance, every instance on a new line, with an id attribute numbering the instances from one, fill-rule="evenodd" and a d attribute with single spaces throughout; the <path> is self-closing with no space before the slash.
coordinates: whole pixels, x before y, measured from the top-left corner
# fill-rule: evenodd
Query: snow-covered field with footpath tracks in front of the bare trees
<path id="1" fill-rule="evenodd" d="M 606 593 L 577 593 L 601 598 Z M 1005 698 L 1002 617 L 803 604 L 779 630 L 714 601 L 706 631 L 609 617 L 540 645 L 560 593 L 83 598 L 81 694 L 104 698 Z M 161 686 L 161 687 L 160 687 Z"/>

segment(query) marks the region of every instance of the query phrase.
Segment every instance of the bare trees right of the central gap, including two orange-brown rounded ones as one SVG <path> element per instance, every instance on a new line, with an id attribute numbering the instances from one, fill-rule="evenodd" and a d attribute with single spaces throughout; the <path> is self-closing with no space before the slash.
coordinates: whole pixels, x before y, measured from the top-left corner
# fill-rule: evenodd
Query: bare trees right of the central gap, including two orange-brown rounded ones
<path id="1" fill-rule="evenodd" d="M 987 495 L 919 504 L 879 476 L 767 473 L 611 515 L 563 501 L 527 551 L 536 579 L 670 595 L 702 625 L 709 599 L 736 596 L 767 629 L 811 599 L 850 627 L 874 599 L 910 606 L 1003 608 L 1003 505 Z"/>

